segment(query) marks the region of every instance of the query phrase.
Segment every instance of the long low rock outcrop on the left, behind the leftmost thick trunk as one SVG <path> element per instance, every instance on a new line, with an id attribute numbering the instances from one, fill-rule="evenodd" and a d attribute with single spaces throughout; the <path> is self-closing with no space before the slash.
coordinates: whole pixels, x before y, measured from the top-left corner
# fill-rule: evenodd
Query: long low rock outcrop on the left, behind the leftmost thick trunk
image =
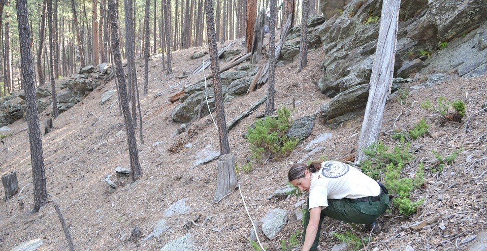
<path id="1" fill-rule="evenodd" d="M 60 88 L 56 93 L 57 108 L 64 112 L 83 100 L 102 80 L 113 77 L 110 64 L 102 63 L 96 67 L 87 66 L 73 77 L 64 77 L 57 81 Z M 51 85 L 40 86 L 36 89 L 37 111 L 43 112 L 52 105 Z M 13 123 L 25 114 L 24 90 L 10 96 L 0 98 L 0 127 Z"/>

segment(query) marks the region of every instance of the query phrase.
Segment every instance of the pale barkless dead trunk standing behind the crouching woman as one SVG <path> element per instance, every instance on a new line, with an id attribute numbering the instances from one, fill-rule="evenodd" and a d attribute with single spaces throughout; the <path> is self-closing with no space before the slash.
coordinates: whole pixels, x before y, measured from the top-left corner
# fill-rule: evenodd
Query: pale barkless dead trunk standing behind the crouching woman
<path id="1" fill-rule="evenodd" d="M 355 162 L 367 158 L 364 149 L 379 138 L 385 100 L 391 92 L 396 54 L 400 0 L 384 0 L 379 27 L 377 50 L 370 77 L 369 99 L 365 108 Z"/>

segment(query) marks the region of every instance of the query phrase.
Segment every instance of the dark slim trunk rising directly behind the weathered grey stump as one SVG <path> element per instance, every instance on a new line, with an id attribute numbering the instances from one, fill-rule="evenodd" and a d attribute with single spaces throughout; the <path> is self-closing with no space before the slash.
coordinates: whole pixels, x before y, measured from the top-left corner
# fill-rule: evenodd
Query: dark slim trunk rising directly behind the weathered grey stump
<path id="1" fill-rule="evenodd" d="M 230 145 L 226 130 L 225 110 L 221 90 L 220 66 L 218 62 L 218 48 L 216 47 L 215 23 L 213 21 L 213 1 L 206 0 L 206 25 L 208 32 L 208 46 L 210 50 L 211 72 L 213 73 L 213 89 L 215 92 L 216 121 L 220 139 L 220 154 L 229 154 Z"/>

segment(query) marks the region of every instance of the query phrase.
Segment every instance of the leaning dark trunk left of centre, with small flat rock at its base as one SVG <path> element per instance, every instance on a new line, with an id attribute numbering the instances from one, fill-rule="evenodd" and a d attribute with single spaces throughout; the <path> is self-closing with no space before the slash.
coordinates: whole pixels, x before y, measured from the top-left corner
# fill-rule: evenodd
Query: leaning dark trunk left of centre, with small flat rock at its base
<path id="1" fill-rule="evenodd" d="M 120 43 L 118 38 L 118 14 L 115 0 L 108 0 L 108 15 L 110 16 L 110 27 L 112 31 L 112 51 L 113 59 L 116 66 L 116 75 L 118 88 L 121 97 L 123 118 L 125 119 L 125 131 L 127 134 L 128 153 L 130 156 L 131 177 L 136 181 L 142 175 L 142 169 L 139 163 L 139 151 L 137 150 L 137 141 L 135 139 L 134 121 L 128 105 L 127 89 L 125 85 L 125 74 L 123 72 L 122 57 L 120 55 Z M 130 12 L 130 15 L 132 13 Z"/>

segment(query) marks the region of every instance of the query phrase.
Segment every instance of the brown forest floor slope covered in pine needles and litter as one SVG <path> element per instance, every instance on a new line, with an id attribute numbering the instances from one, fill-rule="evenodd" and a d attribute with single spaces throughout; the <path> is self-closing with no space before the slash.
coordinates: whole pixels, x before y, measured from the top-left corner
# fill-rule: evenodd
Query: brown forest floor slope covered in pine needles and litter
<path id="1" fill-rule="evenodd" d="M 235 43 L 233 48 L 245 51 L 241 41 Z M 213 203 L 216 162 L 190 168 L 195 156 L 207 145 L 219 148 L 218 132 L 211 117 L 193 122 L 190 125 L 191 135 L 183 133 L 171 137 L 180 124 L 171 119 L 172 109 L 178 102 L 171 104 L 168 98 L 183 86 L 202 78 L 203 74 L 176 78 L 182 76 L 183 71 L 191 72 L 201 64 L 201 58 L 189 58 L 193 52 L 200 50 L 191 48 L 174 52 L 171 75 L 162 69 L 163 62 L 159 57 L 149 62 L 149 93 L 140 99 L 145 143 L 140 144 L 137 132 L 143 171 L 137 182 L 131 184 L 126 180 L 114 193 L 109 193 L 105 182 L 106 174 L 115 175 L 115 167 L 130 168 L 126 136 L 119 133 L 124 130 L 123 117 L 119 114 L 115 96 L 104 105 L 99 104 L 102 93 L 115 88 L 114 80 L 96 88 L 82 102 L 60 114 L 53 120 L 53 131 L 42 137 L 47 191 L 59 204 L 77 250 L 158 250 L 187 232 L 192 234 L 196 250 L 253 249 L 249 243 L 251 223 L 240 193 L 236 191 L 219 203 Z M 291 109 L 291 116 L 297 119 L 313 114 L 329 100 L 315 84 L 322 75 L 319 65 L 324 56 L 319 49 L 311 50 L 308 66 L 300 73 L 297 72 L 296 62 L 276 68 L 276 108 L 285 106 L 291 109 L 293 99 L 296 100 L 297 105 Z M 265 61 L 262 60 L 260 64 L 265 64 Z M 137 63 L 137 74 L 139 83 L 143 83 L 142 60 Z M 206 74 L 210 74 L 209 69 Z M 480 110 L 487 101 L 485 86 L 487 76 L 453 78 L 410 92 L 403 104 L 397 96 L 388 101 L 380 138 L 386 144 L 395 142 L 391 138 L 392 131 L 410 130 L 421 118 L 425 118 L 430 125 L 429 135 L 412 143 L 415 164 L 403 170 L 404 175 L 412 176 L 419 161 L 426 163 L 426 182 L 412 195 L 413 200 L 422 198 L 425 203 L 411 216 L 401 215 L 397 210 L 382 215 L 378 219 L 382 232 L 366 245 L 367 250 L 405 250 L 407 245 L 416 250 L 457 250 L 466 245 L 460 244 L 461 240 L 485 231 L 487 113 L 476 114 L 469 121 L 468 133 L 464 132 L 467 117 Z M 164 90 L 166 92 L 162 96 L 154 98 L 156 93 Z M 230 121 L 266 95 L 267 85 L 264 85 L 249 95 L 226 103 L 226 120 Z M 440 125 L 438 114 L 421 108 L 421 102 L 429 99 L 435 103 L 439 97 L 450 101 L 463 100 L 467 104 L 464 121 Z M 248 142 L 241 135 L 264 109 L 265 105 L 261 106 L 229 132 L 230 148 L 239 166 L 246 163 L 250 155 Z M 40 114 L 41 121 L 49 113 L 47 110 Z M 312 135 L 288 156 L 264 164 L 253 163 L 252 171 L 240 173 L 240 189 L 255 222 L 272 208 L 290 211 L 288 223 L 274 239 L 267 239 L 262 232 L 259 234 L 268 250 L 279 249 L 281 240 L 289 240 L 291 235 L 302 229 L 301 221 L 291 215 L 297 210 L 294 204 L 305 200 L 306 195 L 266 199 L 286 183 L 289 164 L 300 160 L 307 153 L 305 146 L 323 133 L 331 133 L 332 137 L 321 144 L 325 149 L 310 156 L 310 159 L 317 160 L 321 156 L 331 160 L 349 159 L 356 152 L 362 119 L 359 117 L 347 121 L 337 129 L 330 129 L 321 119 L 317 119 Z M 0 202 L 0 249 L 10 250 L 24 241 L 42 238 L 45 244 L 38 250 L 67 250 L 67 242 L 52 203 L 38 213 L 29 213 L 34 205 L 29 141 L 27 131 L 21 131 L 27 125 L 21 119 L 9 127 L 16 133 L 3 139 L 0 144 L 0 171 L 16 171 L 21 191 L 9 201 Z M 169 151 L 181 138 L 192 146 L 179 153 Z M 156 142 L 159 144 L 154 144 Z M 445 156 L 462 147 L 456 162 L 441 173 L 428 169 L 428 165 L 436 161 L 432 150 Z M 3 191 L 0 197 L 4 197 Z M 163 218 L 164 211 L 182 198 L 188 198 L 186 204 L 191 208 L 189 213 L 167 218 L 171 226 L 169 232 L 158 239 L 142 242 L 152 232 L 155 223 Z M 20 202 L 25 208 L 19 208 Z M 189 230 L 183 227 L 188 221 L 199 217 L 198 226 Z M 204 225 L 203 219 L 208 219 Z M 428 227 L 419 230 L 405 227 L 426 219 L 431 223 Z M 135 241 L 129 240 L 136 226 L 143 236 Z M 351 230 L 360 237 L 369 236 L 362 227 L 337 221 L 326 221 L 322 230 L 321 250 L 331 250 L 341 242 L 331 234 L 333 232 Z"/>

